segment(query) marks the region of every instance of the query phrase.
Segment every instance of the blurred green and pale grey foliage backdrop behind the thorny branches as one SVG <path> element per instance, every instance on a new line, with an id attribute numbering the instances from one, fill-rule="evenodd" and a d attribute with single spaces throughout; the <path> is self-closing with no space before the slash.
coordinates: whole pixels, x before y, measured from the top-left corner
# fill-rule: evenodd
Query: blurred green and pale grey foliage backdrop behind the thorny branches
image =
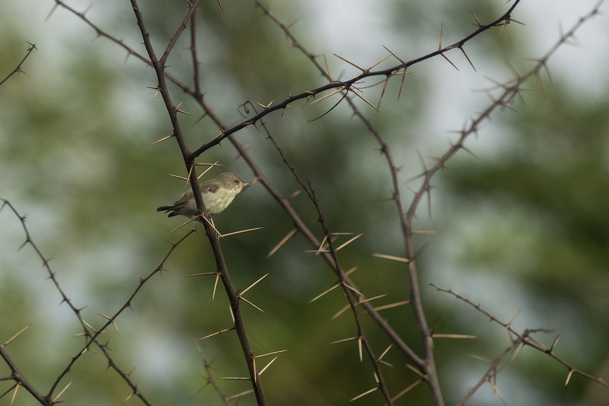
<path id="1" fill-rule="evenodd" d="M 505 82 L 514 71 L 524 74 L 547 52 L 560 32 L 588 13 L 594 1 L 523 2 L 510 24 L 466 44 L 476 71 L 459 51 L 449 52 L 459 70 L 443 58 L 414 65 L 398 100 L 400 79 L 390 81 L 379 111 L 362 100 L 357 105 L 370 118 L 401 166 L 403 201 L 410 203 L 409 178 L 421 172 L 418 154 L 431 166 L 449 143 L 452 131 L 491 103 L 485 89 Z M 100 29 L 145 55 L 132 9 L 125 1 L 69 1 Z M 266 1 L 301 44 L 325 55 L 335 79 L 358 71 L 334 57 L 340 55 L 367 68 L 387 56 L 386 46 L 403 60 L 435 51 L 440 27 L 443 44 L 454 43 L 482 23 L 501 16 L 503 1 Z M 167 235 L 183 220 L 155 212 L 185 190 L 185 176 L 174 140 L 152 145 L 172 132 L 163 100 L 154 99 L 153 70 L 51 0 L 4 1 L 0 5 L 0 79 L 26 54 L 23 72 L 0 86 L 0 197 L 27 214 L 27 226 L 57 280 L 92 326 L 125 303 L 187 230 Z M 197 12 L 197 44 L 205 100 L 227 124 L 242 119 L 247 100 L 267 105 L 288 94 L 325 83 L 319 72 L 284 33 L 251 1 L 205 2 Z M 161 54 L 186 12 L 180 1 L 142 1 L 152 43 Z M 607 6 L 601 7 L 606 10 Z M 526 25 L 525 25 L 526 24 Z M 189 33 L 169 58 L 168 71 L 191 85 Z M 509 345 L 501 327 L 451 295 L 437 292 L 433 282 L 453 289 L 517 331 L 548 328 L 535 336 L 551 345 L 570 365 L 600 374 L 609 354 L 609 24 L 597 16 L 577 31 L 547 63 L 549 75 L 524 86 L 513 108 L 496 112 L 466 147 L 435 177 L 431 216 L 427 203 L 417 211 L 415 226 L 437 231 L 417 236 L 421 289 L 428 321 L 443 334 L 476 335 L 476 340 L 436 340 L 440 383 L 447 404 L 455 404 L 485 373 L 488 365 L 470 354 L 494 359 Z M 379 68 L 397 65 L 385 61 Z M 373 85 L 376 79 L 362 84 Z M 541 87 L 540 87 L 541 86 Z M 203 117 L 194 100 L 170 85 L 172 100 L 182 103 L 181 127 L 191 150 L 219 131 Z M 364 90 L 378 102 L 382 86 Z M 265 117 L 269 131 L 300 176 L 310 181 L 331 231 L 364 233 L 340 251 L 346 270 L 357 267 L 354 282 L 368 297 L 387 294 L 378 306 L 408 298 L 404 267 L 373 257 L 404 256 L 389 170 L 379 145 L 346 103 L 312 121 L 337 102 L 337 96 L 302 108 L 294 103 L 284 114 Z M 236 134 L 270 181 L 284 195 L 298 184 L 266 134 L 246 128 Z M 246 181 L 252 171 L 230 142 L 204 153 L 199 162 L 224 164 L 209 177 L 229 170 Z M 305 194 L 292 200 L 303 220 L 322 239 L 317 214 Z M 330 345 L 356 335 L 353 317 L 333 315 L 347 302 L 334 290 L 309 304 L 336 283 L 336 277 L 301 236 L 290 239 L 273 256 L 267 254 L 293 228 L 275 201 L 254 184 L 214 219 L 222 233 L 264 227 L 222 241 L 237 289 L 262 276 L 247 298 L 265 313 L 244 307 L 252 345 L 258 354 L 287 349 L 263 375 L 269 404 L 336 405 L 375 387 L 369 363 L 359 362 L 356 341 Z M 202 229 L 202 228 L 201 228 Z M 48 391 L 84 341 L 77 318 L 61 303 L 32 247 L 19 250 L 21 223 L 5 208 L 0 212 L 0 342 L 29 328 L 7 349 L 27 379 Z M 340 241 L 340 240 L 339 240 Z M 344 241 L 344 240 L 342 240 Z M 152 404 L 220 404 L 205 383 L 205 369 L 195 341 L 231 326 L 224 292 L 212 300 L 213 276 L 187 278 L 214 271 L 207 240 L 193 234 L 171 255 L 166 272 L 155 275 L 109 329 L 114 360 L 138 383 Z M 409 307 L 383 310 L 384 317 L 421 351 Z M 362 316 L 378 354 L 389 340 Z M 236 335 L 200 341 L 212 362 L 214 377 L 244 376 Z M 270 360 L 270 359 L 269 359 Z M 417 379 L 404 367 L 407 360 L 390 350 L 385 360 L 387 382 L 399 393 Z M 607 388 L 573 376 L 544 354 L 525 348 L 505 363 L 496 385 L 510 405 L 604 405 Z M 0 365 L 0 377 L 9 376 Z M 607 374 L 605 373 L 605 380 Z M 121 404 L 130 389 L 97 352 L 85 354 L 62 380 L 72 382 L 66 404 Z M 0 393 L 12 381 L 0 382 Z M 224 393 L 248 390 L 247 383 L 222 380 Z M 12 394 L 0 398 L 10 404 Z M 133 397 L 131 404 L 141 401 Z M 240 405 L 254 404 L 250 395 Z M 378 393 L 351 402 L 382 405 Z M 15 404 L 35 402 L 23 389 Z M 420 386 L 396 404 L 431 404 Z M 468 403 L 501 405 L 490 386 Z"/>

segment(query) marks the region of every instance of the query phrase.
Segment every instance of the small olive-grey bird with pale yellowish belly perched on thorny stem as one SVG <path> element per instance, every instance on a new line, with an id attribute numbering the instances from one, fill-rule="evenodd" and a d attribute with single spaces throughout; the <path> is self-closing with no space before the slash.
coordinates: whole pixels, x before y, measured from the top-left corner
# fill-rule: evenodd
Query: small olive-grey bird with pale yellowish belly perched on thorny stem
<path id="1" fill-rule="evenodd" d="M 245 183 L 236 173 L 225 172 L 220 173 L 215 179 L 201 182 L 200 184 L 205 210 L 207 215 L 211 217 L 224 211 L 233 201 L 234 197 L 241 192 L 241 189 L 248 186 L 249 183 Z M 172 205 L 161 206 L 157 211 L 169 212 L 168 217 L 173 217 L 174 215 L 194 217 L 199 214 L 192 189 L 184 192 L 180 200 Z"/>

